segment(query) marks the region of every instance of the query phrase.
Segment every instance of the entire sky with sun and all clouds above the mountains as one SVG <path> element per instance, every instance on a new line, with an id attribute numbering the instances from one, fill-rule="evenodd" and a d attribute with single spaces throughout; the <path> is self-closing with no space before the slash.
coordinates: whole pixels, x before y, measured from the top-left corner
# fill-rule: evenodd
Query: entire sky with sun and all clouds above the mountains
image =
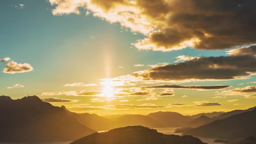
<path id="1" fill-rule="evenodd" d="M 77 113 L 256 103 L 253 0 L 0 1 L 0 95 Z"/>

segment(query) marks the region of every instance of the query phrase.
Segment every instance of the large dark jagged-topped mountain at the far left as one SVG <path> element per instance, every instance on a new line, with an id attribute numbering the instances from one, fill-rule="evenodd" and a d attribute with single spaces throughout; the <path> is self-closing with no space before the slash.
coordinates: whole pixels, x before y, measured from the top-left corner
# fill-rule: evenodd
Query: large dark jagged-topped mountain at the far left
<path id="1" fill-rule="evenodd" d="M 2 142 L 70 141 L 95 132 L 37 96 L 0 96 L 0 117 Z"/>

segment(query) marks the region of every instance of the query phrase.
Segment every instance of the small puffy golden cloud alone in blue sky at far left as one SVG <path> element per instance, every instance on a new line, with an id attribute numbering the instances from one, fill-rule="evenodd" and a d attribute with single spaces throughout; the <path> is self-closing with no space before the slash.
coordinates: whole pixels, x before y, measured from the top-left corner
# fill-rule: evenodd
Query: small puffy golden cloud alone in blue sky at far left
<path id="1" fill-rule="evenodd" d="M 17 62 L 11 61 L 8 64 L 6 64 L 6 67 L 3 69 L 3 73 L 15 74 L 24 73 L 32 70 L 33 67 L 30 64 L 18 64 Z"/>

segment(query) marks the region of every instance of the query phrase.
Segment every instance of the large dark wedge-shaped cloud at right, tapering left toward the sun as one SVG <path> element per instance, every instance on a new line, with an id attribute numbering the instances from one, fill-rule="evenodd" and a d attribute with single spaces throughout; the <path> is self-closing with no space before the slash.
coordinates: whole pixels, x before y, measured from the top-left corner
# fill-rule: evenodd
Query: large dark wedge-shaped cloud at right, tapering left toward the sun
<path id="1" fill-rule="evenodd" d="M 256 72 L 255 56 L 202 57 L 132 73 L 143 80 L 229 80 Z"/>

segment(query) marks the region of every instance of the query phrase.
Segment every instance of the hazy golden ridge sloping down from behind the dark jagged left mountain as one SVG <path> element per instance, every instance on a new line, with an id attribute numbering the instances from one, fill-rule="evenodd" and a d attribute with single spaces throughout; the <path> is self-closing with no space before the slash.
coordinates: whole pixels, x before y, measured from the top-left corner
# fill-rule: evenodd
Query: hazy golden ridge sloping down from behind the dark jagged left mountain
<path id="1" fill-rule="evenodd" d="M 113 120 L 98 116 L 97 114 L 74 113 L 68 111 L 64 106 L 61 106 L 61 108 L 63 108 L 69 115 L 74 116 L 80 123 L 95 131 L 108 131 L 117 128 Z"/>

